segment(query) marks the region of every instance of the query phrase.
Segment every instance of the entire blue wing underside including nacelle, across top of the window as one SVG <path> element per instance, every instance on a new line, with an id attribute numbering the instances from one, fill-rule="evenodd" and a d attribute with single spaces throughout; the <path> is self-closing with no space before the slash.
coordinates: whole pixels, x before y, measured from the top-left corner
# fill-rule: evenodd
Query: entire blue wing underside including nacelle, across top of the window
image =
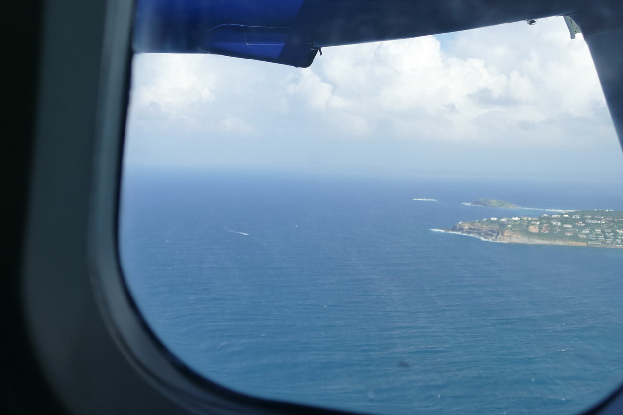
<path id="1" fill-rule="evenodd" d="M 134 49 L 209 52 L 308 67 L 323 46 L 401 39 L 570 14 L 583 2 L 140 0 Z"/>

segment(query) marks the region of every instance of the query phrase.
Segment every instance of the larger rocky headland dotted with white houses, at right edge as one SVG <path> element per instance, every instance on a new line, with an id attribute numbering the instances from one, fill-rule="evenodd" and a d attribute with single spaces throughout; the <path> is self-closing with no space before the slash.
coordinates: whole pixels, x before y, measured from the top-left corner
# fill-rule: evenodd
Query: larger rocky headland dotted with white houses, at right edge
<path id="1" fill-rule="evenodd" d="M 511 244 L 623 248 L 623 211 L 594 209 L 540 217 L 488 217 L 435 230 Z"/>

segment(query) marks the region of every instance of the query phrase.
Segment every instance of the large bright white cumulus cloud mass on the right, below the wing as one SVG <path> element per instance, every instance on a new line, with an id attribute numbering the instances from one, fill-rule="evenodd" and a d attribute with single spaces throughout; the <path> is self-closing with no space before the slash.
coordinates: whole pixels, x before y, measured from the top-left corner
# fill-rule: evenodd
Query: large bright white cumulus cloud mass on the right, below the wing
<path id="1" fill-rule="evenodd" d="M 326 101 L 350 103 L 338 113 L 363 117 L 370 134 L 389 123 L 413 140 L 487 141 L 547 123 L 559 125 L 548 139 L 560 143 L 571 118 L 608 120 L 586 44 L 571 42 L 559 20 L 536 31 L 464 32 L 445 44 L 430 36 L 335 47 L 313 70 L 333 86 Z"/>

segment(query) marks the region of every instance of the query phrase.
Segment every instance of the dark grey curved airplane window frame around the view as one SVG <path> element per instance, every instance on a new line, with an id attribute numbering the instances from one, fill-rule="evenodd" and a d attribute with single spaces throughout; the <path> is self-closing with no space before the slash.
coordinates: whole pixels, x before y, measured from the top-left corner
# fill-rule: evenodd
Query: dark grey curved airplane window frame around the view
<path id="1" fill-rule="evenodd" d="M 133 2 L 46 0 L 43 10 L 22 301 L 55 395 L 76 413 L 350 413 L 224 388 L 151 332 L 126 287 L 117 241 Z M 620 413 L 623 387 L 584 412 Z"/>

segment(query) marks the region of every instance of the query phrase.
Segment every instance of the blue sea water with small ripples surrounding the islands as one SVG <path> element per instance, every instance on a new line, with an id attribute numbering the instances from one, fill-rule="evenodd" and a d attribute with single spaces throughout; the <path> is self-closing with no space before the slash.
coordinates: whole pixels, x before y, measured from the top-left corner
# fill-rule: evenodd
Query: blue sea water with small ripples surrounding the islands
<path id="1" fill-rule="evenodd" d="M 386 414 L 586 409 L 623 381 L 623 249 L 430 230 L 529 212 L 462 204 L 476 198 L 623 210 L 623 181 L 130 169 L 121 262 L 164 344 L 244 393 Z"/>

